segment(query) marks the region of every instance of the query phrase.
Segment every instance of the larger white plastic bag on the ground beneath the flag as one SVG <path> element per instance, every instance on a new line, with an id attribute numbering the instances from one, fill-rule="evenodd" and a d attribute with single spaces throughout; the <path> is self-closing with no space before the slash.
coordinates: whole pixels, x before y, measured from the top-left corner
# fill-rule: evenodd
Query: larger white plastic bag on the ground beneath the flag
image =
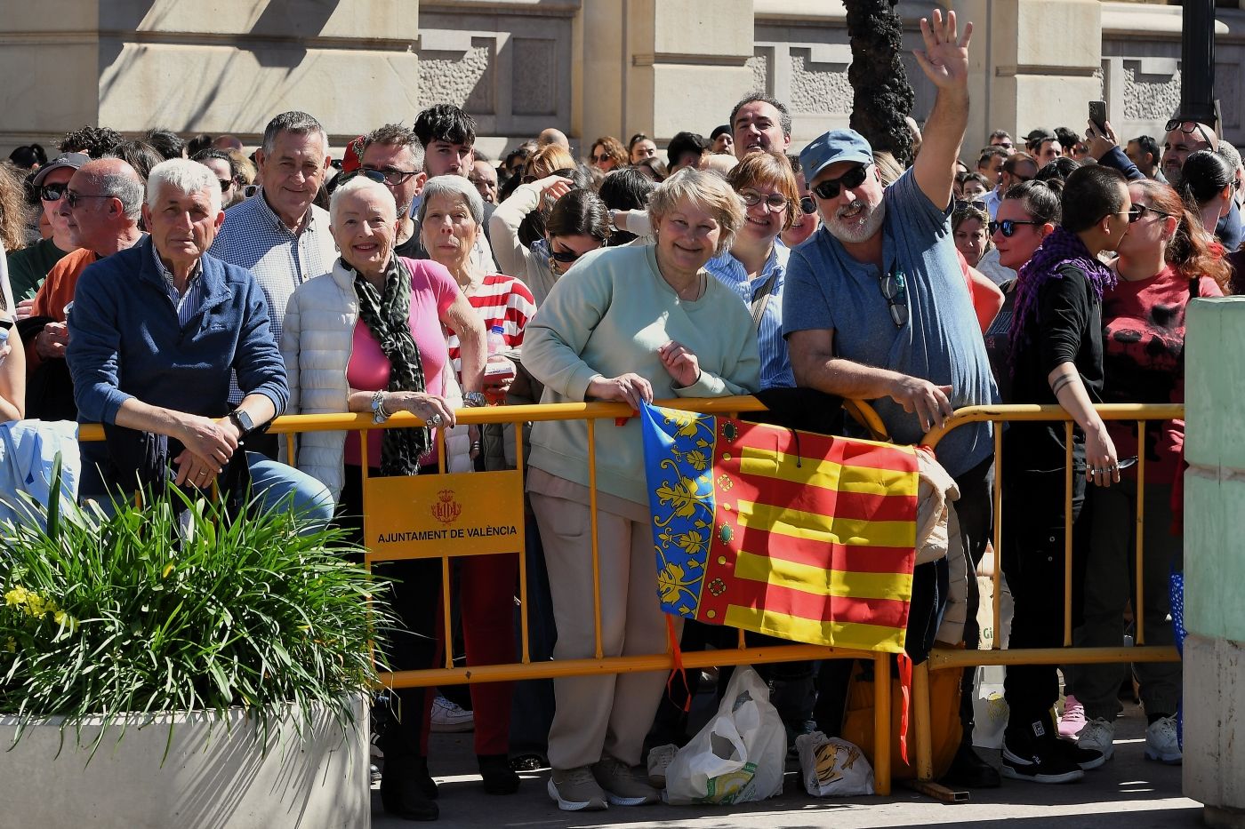
<path id="1" fill-rule="evenodd" d="M 751 803 L 782 793 L 787 729 L 769 688 L 749 666 L 735 670 L 717 716 L 666 768 L 671 804 Z"/>

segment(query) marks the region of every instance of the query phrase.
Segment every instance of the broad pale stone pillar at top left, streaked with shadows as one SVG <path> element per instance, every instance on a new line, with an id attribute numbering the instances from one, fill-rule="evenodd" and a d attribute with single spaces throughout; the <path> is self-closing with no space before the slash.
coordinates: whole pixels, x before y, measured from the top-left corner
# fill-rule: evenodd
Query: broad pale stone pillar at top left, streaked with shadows
<path id="1" fill-rule="evenodd" d="M 342 143 L 417 111 L 417 0 L 55 0 L 0 15 L 0 146 L 85 123 L 233 132 L 305 110 Z"/>

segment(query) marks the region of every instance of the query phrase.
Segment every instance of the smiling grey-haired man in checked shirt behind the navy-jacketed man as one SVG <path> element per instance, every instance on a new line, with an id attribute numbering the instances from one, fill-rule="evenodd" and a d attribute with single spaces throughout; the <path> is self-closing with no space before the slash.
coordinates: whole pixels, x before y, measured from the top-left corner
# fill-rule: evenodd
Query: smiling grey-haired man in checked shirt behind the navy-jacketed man
<path id="1" fill-rule="evenodd" d="M 329 138 L 306 112 L 283 112 L 264 128 L 255 161 L 260 190 L 225 212 L 212 255 L 254 274 L 268 300 L 275 344 L 294 289 L 327 274 L 337 259 L 329 214 L 312 204 L 331 162 Z M 229 400 L 242 400 L 237 382 Z M 261 451 L 276 457 L 276 441 Z"/>

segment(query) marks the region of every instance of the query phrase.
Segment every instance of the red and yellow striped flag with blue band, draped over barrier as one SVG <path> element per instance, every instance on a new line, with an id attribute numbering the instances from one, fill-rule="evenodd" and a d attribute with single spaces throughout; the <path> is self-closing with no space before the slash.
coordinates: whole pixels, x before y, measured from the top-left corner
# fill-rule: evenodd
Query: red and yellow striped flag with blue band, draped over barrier
<path id="1" fill-rule="evenodd" d="M 916 449 L 654 406 L 641 417 L 662 610 L 903 653 Z"/>

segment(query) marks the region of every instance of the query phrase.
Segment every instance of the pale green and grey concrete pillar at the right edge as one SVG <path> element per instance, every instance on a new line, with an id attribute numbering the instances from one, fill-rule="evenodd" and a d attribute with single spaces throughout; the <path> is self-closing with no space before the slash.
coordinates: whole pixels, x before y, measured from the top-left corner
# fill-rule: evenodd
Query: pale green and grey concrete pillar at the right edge
<path id="1" fill-rule="evenodd" d="M 1234 345 L 1235 344 L 1235 345 Z M 1185 345 L 1184 793 L 1245 828 L 1245 297 L 1195 300 Z"/>

